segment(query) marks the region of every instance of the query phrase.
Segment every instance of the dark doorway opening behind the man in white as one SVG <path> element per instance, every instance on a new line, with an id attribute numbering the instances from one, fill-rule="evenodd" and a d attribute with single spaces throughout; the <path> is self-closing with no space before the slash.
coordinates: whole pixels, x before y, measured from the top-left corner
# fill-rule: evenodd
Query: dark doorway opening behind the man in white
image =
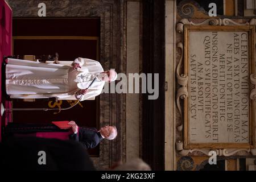
<path id="1" fill-rule="evenodd" d="M 13 19 L 13 55 L 53 55 L 59 53 L 60 61 L 73 61 L 77 57 L 98 60 L 100 55 L 100 18 L 15 18 Z M 99 126 L 99 96 L 83 101 L 69 110 L 14 111 L 13 122 L 50 123 L 51 121 L 76 121 L 79 126 Z M 68 107 L 75 101 L 43 99 L 25 102 L 13 100 L 13 107 Z M 99 155 L 99 147 L 90 150 Z"/>

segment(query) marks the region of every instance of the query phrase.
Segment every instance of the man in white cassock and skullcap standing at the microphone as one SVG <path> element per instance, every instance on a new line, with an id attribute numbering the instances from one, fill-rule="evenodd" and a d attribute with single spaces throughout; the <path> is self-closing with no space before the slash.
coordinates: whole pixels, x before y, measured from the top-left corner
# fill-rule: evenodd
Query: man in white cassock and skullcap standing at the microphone
<path id="1" fill-rule="evenodd" d="M 96 80 L 88 88 L 94 78 Z M 114 70 L 104 71 L 98 61 L 81 57 L 70 65 L 9 58 L 6 65 L 6 93 L 10 98 L 57 97 L 60 100 L 78 100 L 82 97 L 80 101 L 83 101 L 101 94 L 105 82 L 116 78 Z"/>

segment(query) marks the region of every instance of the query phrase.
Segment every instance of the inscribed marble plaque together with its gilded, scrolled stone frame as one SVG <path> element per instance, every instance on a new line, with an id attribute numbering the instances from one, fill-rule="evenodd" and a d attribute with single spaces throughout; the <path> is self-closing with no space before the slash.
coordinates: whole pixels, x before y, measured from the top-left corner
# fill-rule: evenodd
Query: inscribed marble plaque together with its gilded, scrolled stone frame
<path id="1" fill-rule="evenodd" d="M 184 44 L 177 45 L 184 53 L 184 73 L 182 56 L 176 74 L 180 114 L 179 100 L 184 100 L 177 126 L 184 133 L 176 143 L 180 155 L 208 155 L 210 150 L 224 156 L 255 154 L 255 24 L 255 19 L 237 23 L 226 18 L 177 23 L 184 35 Z"/>

